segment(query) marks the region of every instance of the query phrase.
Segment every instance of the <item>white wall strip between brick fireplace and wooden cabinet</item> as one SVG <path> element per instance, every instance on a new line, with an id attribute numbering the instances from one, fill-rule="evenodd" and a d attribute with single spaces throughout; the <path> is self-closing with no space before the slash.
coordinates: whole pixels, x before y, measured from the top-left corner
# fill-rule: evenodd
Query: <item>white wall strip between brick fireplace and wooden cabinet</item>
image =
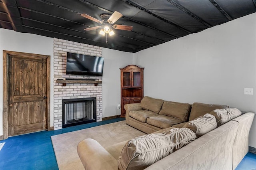
<path id="1" fill-rule="evenodd" d="M 132 64 L 133 53 L 102 48 L 104 68 L 102 77 L 102 117 L 120 115 L 120 69 Z"/>

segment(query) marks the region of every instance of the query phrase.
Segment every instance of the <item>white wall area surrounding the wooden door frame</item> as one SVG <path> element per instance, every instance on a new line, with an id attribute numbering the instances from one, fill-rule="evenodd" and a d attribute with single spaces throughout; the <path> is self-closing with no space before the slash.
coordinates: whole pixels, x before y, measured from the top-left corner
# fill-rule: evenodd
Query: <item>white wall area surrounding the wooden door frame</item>
<path id="1" fill-rule="evenodd" d="M 34 53 L 50 55 L 50 101 L 53 101 L 53 38 L 38 36 L 35 34 L 19 33 L 12 30 L 0 28 L 0 68 L 3 68 L 3 50 L 18 51 L 24 53 Z M 0 81 L 3 82 L 3 69 L 0 69 Z M 3 83 L 0 83 L 0 135 L 3 134 Z M 50 105 L 53 113 L 53 103 Z M 53 126 L 53 114 L 50 117 Z"/>

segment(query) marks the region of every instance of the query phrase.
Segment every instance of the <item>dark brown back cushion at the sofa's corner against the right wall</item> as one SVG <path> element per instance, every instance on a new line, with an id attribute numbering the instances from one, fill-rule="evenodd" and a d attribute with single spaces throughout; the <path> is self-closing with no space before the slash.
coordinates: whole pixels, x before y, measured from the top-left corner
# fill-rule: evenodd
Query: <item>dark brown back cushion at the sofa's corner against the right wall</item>
<path id="1" fill-rule="evenodd" d="M 210 104 L 204 104 L 204 103 L 194 103 L 192 105 L 189 121 L 192 121 L 197 117 L 205 115 L 206 113 L 210 113 L 215 109 L 226 109 L 228 107 L 229 106 L 226 106 L 226 105 L 210 105 Z"/>

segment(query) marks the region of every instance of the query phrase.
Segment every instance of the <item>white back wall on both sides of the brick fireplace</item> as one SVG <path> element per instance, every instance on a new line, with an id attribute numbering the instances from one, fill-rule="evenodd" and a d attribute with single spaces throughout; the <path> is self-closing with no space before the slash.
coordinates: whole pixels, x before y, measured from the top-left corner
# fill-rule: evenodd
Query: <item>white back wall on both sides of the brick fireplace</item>
<path id="1" fill-rule="evenodd" d="M 19 33 L 12 30 L 0 28 L 0 68 L 3 67 L 3 50 L 35 53 L 51 56 L 51 96 L 50 96 L 50 123 L 53 126 L 53 53 L 54 40 L 35 34 Z M 104 73 L 102 77 L 102 117 L 120 115 L 120 69 L 132 64 L 133 54 L 112 49 L 102 48 L 104 61 Z M 3 69 L 0 69 L 0 81 L 3 82 Z M 0 135 L 3 134 L 2 112 L 3 112 L 3 84 L 0 83 Z"/>

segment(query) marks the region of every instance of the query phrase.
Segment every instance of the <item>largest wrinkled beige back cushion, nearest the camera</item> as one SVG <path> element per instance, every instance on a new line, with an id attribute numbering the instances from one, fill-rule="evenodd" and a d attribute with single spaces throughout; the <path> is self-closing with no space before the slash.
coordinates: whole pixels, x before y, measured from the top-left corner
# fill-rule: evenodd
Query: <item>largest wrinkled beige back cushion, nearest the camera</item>
<path id="1" fill-rule="evenodd" d="M 118 159 L 119 170 L 142 170 L 196 139 L 188 128 L 147 134 L 127 142 Z"/>

